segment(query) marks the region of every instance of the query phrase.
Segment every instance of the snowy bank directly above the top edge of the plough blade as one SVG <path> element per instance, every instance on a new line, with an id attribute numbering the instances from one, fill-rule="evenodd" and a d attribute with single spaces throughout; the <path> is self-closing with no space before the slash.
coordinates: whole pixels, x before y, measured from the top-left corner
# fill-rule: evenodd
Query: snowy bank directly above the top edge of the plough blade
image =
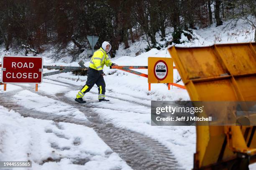
<path id="1" fill-rule="evenodd" d="M 187 33 L 186 31 L 183 31 Z M 182 36 L 182 44 L 177 44 L 177 47 L 202 47 L 214 44 L 231 44 L 254 42 L 255 29 L 251 27 L 245 20 L 225 21 L 223 25 L 218 27 L 215 24 L 207 28 L 192 30 L 194 40 L 187 41 L 185 36 Z M 184 35 L 184 34 L 183 34 Z"/>

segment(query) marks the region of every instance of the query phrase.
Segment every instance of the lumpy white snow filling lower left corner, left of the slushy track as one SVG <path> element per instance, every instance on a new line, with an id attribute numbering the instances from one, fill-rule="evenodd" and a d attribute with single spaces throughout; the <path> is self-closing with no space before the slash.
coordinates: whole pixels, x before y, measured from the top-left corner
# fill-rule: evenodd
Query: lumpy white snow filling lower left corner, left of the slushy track
<path id="1" fill-rule="evenodd" d="M 0 117 L 0 161 L 31 160 L 31 170 L 131 170 L 92 128 L 22 117 L 3 106 Z"/>

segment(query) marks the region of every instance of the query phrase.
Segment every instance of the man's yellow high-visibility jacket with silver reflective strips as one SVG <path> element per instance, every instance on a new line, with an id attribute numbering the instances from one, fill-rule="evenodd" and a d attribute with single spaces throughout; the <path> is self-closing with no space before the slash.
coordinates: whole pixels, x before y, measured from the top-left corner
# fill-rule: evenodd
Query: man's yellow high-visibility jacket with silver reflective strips
<path id="1" fill-rule="evenodd" d="M 104 65 L 111 66 L 113 62 L 108 58 L 108 54 L 100 47 L 99 50 L 93 53 L 89 67 L 98 70 L 100 74 L 103 73 L 102 69 Z M 101 70 L 101 71 L 100 71 Z"/>

